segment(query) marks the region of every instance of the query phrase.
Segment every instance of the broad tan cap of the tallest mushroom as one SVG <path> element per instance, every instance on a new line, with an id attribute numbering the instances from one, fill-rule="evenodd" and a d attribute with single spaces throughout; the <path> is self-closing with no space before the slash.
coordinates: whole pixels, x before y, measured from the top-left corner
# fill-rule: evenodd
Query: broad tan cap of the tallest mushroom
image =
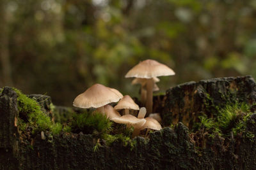
<path id="1" fill-rule="evenodd" d="M 174 75 L 174 71 L 168 66 L 157 62 L 156 60 L 144 60 L 132 67 L 125 75 L 125 78 L 154 78 L 157 76 L 171 76 Z"/>

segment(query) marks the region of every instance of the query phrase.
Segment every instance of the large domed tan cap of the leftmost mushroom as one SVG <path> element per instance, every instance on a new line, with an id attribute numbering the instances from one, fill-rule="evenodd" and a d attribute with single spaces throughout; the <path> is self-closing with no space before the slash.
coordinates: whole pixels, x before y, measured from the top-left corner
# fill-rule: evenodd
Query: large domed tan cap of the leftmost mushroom
<path id="1" fill-rule="evenodd" d="M 118 90 L 115 90 L 96 83 L 82 94 L 79 94 L 74 99 L 73 106 L 77 108 L 99 108 L 112 102 L 118 102 L 122 97 L 116 92 Z"/>

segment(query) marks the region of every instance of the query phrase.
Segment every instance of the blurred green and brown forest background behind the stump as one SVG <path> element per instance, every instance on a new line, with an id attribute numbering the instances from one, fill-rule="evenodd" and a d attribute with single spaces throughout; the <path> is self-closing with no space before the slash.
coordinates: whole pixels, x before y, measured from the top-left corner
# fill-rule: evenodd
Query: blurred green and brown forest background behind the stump
<path id="1" fill-rule="evenodd" d="M 155 59 L 186 81 L 256 78 L 256 0 L 0 0 L 0 87 L 72 106 L 94 83 L 136 96 L 125 73 Z"/>

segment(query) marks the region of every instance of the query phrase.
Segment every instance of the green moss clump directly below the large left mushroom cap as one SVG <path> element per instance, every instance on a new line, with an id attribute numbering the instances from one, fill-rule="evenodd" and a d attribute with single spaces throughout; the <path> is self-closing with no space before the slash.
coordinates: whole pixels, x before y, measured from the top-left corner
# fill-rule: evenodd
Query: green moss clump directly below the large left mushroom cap
<path id="1" fill-rule="evenodd" d="M 71 127 L 72 132 L 85 134 L 102 134 L 112 130 L 112 122 L 102 113 L 81 113 L 74 116 Z"/>

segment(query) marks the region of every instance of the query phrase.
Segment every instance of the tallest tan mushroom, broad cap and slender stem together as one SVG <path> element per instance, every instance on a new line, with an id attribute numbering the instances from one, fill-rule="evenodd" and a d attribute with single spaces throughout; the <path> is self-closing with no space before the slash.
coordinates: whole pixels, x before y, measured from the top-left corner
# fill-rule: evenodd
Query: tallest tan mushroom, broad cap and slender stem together
<path id="1" fill-rule="evenodd" d="M 154 77 L 157 76 L 170 76 L 174 75 L 174 71 L 168 66 L 157 62 L 156 60 L 144 60 L 132 67 L 130 71 L 125 75 L 125 78 L 136 77 L 136 78 L 146 78 L 146 88 L 147 88 L 147 102 L 146 108 L 148 113 L 152 113 L 153 107 L 153 87 L 154 87 Z"/>

